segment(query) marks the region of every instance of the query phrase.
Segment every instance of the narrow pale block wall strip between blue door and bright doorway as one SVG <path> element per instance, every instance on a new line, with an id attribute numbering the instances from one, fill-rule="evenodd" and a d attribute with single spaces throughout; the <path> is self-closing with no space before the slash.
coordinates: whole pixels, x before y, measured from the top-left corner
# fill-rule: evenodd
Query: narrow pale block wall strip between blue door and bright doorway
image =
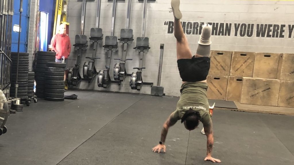
<path id="1" fill-rule="evenodd" d="M 39 0 L 30 0 L 30 19 L 29 19 L 29 37 L 28 37 L 28 52 L 29 53 L 29 68 L 32 70 L 35 50 L 35 31 L 36 31 L 36 13 L 39 9 Z"/>

